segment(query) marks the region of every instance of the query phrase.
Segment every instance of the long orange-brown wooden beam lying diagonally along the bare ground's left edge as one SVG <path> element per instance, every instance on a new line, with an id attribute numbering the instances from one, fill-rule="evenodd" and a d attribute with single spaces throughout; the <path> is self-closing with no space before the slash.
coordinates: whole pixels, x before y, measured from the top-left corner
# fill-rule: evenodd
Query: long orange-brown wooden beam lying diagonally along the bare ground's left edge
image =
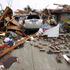
<path id="1" fill-rule="evenodd" d="M 20 40 L 18 40 L 14 46 L 10 47 L 10 48 L 7 48 L 5 50 L 3 50 L 1 53 L 0 53 L 0 57 L 6 55 L 7 53 L 9 53 L 10 51 L 14 50 L 16 47 L 18 47 L 19 45 L 23 44 L 25 41 L 27 41 L 29 39 L 29 37 L 24 37 L 24 38 L 21 38 Z"/>

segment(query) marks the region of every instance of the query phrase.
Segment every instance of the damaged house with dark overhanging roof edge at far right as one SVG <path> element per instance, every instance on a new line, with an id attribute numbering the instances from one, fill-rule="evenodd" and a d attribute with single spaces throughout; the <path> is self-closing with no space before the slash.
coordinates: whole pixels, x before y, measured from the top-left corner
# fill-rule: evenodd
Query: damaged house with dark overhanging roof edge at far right
<path id="1" fill-rule="evenodd" d="M 59 5 L 62 9 L 50 10 L 51 14 L 54 15 L 57 23 L 63 25 L 65 32 L 70 32 L 70 6 L 69 5 Z"/>

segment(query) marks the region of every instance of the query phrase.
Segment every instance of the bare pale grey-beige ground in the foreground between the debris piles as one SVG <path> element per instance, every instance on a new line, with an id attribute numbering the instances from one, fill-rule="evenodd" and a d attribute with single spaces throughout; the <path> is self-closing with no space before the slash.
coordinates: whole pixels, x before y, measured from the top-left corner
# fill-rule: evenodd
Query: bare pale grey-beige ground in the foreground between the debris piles
<path id="1" fill-rule="evenodd" d="M 34 44 L 38 43 L 48 45 L 47 41 L 42 40 L 36 43 L 27 41 L 23 48 L 14 50 L 12 55 L 18 57 L 19 63 L 13 63 L 8 70 L 70 70 L 70 65 L 64 59 L 62 63 L 58 63 L 55 54 L 47 54 L 48 46 L 44 47 L 45 52 L 41 52 L 39 48 L 34 47 Z"/>

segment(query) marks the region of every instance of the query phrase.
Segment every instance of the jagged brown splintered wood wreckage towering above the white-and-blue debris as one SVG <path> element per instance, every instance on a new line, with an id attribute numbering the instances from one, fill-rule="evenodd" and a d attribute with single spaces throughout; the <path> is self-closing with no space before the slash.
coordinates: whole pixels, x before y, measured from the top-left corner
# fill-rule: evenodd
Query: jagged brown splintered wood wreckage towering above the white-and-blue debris
<path id="1" fill-rule="evenodd" d="M 2 16 L 0 17 L 0 30 L 1 31 L 15 31 L 19 34 L 22 32 L 22 25 L 15 20 L 13 11 L 6 7 Z"/>

